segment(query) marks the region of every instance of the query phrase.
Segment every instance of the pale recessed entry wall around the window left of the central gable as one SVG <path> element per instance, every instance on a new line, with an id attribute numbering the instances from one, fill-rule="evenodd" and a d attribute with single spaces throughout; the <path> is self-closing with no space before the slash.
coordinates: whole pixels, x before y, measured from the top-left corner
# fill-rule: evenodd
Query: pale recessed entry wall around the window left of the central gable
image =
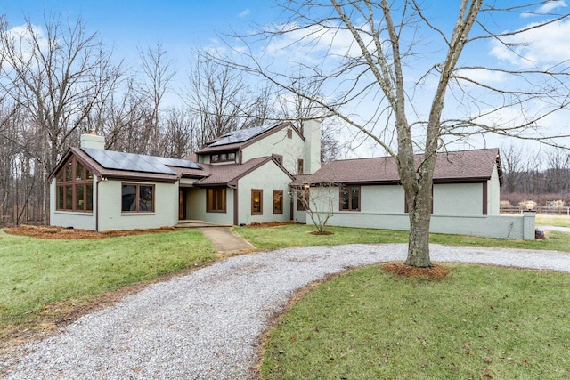
<path id="1" fill-rule="evenodd" d="M 186 194 L 186 217 L 194 221 L 233 225 L 233 189 L 225 190 L 225 213 L 206 212 L 206 189 L 190 188 Z"/>

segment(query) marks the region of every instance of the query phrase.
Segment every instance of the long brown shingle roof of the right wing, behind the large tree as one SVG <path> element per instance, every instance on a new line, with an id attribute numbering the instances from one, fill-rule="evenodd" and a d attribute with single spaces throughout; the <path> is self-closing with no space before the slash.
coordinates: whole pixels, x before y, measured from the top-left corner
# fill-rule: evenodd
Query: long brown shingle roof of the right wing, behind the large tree
<path id="1" fill-rule="evenodd" d="M 423 155 L 416 155 L 419 162 Z M 459 150 L 439 153 L 434 182 L 468 182 L 489 180 L 494 166 L 499 166 L 499 150 Z M 298 175 L 293 185 L 303 183 L 397 183 L 400 181 L 392 157 L 357 158 L 331 161 L 314 174 Z"/>

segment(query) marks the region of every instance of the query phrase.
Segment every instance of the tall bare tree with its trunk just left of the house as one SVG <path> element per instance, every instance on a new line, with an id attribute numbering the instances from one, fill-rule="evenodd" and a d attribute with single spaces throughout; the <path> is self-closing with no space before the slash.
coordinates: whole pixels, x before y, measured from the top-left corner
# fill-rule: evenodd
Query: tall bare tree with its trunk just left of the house
<path id="1" fill-rule="evenodd" d="M 69 136 L 85 122 L 95 104 L 112 91 L 120 68 L 111 52 L 87 34 L 85 23 L 61 22 L 45 15 L 37 27 L 31 20 L 19 29 L 3 23 L 0 29 L 2 90 L 24 109 L 33 138 L 33 152 L 43 187 L 43 222 L 47 222 L 47 175 L 69 146 Z"/>

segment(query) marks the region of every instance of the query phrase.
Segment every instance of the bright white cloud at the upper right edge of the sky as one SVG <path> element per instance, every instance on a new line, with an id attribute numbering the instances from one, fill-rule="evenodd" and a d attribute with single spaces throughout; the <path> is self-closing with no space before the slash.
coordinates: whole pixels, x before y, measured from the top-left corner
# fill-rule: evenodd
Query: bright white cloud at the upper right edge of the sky
<path id="1" fill-rule="evenodd" d="M 526 28 L 537 24 L 529 24 Z M 519 67 L 544 67 L 570 60 L 570 20 L 560 20 L 542 28 L 534 28 L 504 37 L 508 48 L 498 41 L 493 42 L 490 54 L 501 61 Z"/>

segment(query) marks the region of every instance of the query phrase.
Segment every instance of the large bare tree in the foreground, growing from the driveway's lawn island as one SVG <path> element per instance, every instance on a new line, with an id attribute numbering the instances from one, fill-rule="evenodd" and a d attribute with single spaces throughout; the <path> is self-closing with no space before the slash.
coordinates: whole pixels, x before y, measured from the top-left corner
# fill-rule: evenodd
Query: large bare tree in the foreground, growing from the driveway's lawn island
<path id="1" fill-rule="evenodd" d="M 439 5 L 430 2 L 290 0 L 282 4 L 288 20 L 241 36 L 235 58 L 219 61 L 316 102 L 386 150 L 398 166 L 409 210 L 406 263 L 428 267 L 434 167 L 446 144 L 484 133 L 557 143 L 545 131 L 531 132 L 568 105 L 567 65 L 542 65 L 519 50 L 525 47 L 522 37 L 568 18 L 541 5 L 551 3 L 461 0 L 453 4 L 455 24 L 446 25 L 434 17 Z M 535 15 L 533 23 L 505 30 L 495 22 L 521 13 Z M 480 53 L 469 57 L 471 64 L 460 61 L 468 46 L 480 49 L 485 43 L 518 54 L 525 64 L 490 66 L 477 60 Z M 286 67 L 274 58 L 281 49 L 291 55 Z M 487 79 L 493 74 L 506 81 L 494 84 Z M 315 99 L 299 91 L 296 80 L 322 83 L 329 96 Z M 542 107 L 534 107 L 537 102 Z M 423 154 L 419 163 L 417 152 Z"/>

